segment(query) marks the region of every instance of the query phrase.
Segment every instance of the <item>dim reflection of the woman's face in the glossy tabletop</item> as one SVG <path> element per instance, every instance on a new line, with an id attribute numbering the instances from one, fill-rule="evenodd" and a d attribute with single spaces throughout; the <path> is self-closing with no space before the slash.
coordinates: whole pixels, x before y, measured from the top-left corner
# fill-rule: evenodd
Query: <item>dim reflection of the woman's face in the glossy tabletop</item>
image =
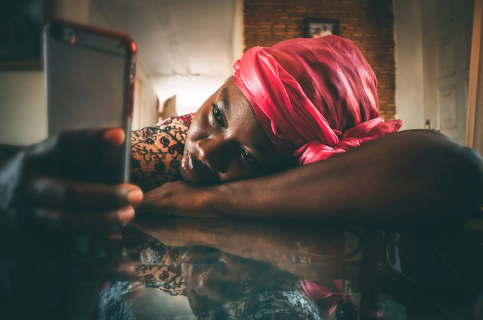
<path id="1" fill-rule="evenodd" d="M 289 277 L 274 272 L 275 268 L 264 263 L 217 250 L 190 252 L 186 257 L 188 259 L 182 264 L 183 277 L 195 314 L 236 301 L 256 290 L 266 290 L 269 278 Z"/>

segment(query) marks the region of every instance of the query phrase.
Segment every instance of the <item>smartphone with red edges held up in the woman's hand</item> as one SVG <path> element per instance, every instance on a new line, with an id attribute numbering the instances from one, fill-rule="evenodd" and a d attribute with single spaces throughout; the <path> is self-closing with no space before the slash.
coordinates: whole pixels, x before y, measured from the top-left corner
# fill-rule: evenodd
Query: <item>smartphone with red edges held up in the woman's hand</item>
<path id="1" fill-rule="evenodd" d="M 124 128 L 129 137 L 136 45 L 125 34 L 55 21 L 43 32 L 49 136 Z M 112 180 L 128 181 L 127 138 L 112 154 Z M 115 158 L 114 158 L 115 157 Z"/>

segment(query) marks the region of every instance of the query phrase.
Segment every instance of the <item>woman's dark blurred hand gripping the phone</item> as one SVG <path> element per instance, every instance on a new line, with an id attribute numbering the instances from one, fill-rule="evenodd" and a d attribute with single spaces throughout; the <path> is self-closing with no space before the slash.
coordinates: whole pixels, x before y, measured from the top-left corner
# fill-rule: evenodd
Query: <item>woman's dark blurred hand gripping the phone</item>
<path id="1" fill-rule="evenodd" d="M 134 185 L 109 186 L 106 154 L 124 131 L 66 132 L 26 148 L 0 168 L 0 223 L 41 223 L 91 231 L 127 223 L 143 194 Z"/>

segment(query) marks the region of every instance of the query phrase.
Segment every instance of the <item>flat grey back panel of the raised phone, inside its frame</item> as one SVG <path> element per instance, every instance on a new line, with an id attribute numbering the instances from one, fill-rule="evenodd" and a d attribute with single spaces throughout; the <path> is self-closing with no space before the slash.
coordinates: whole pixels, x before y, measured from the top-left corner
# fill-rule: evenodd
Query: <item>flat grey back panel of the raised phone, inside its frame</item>
<path id="1" fill-rule="evenodd" d="M 79 32 L 75 37 L 79 38 Z M 96 41 L 88 37 L 84 34 L 84 42 L 92 44 L 48 40 L 49 135 L 66 130 L 124 126 L 128 65 L 126 54 L 117 50 L 119 46 L 122 48 L 122 43 L 105 39 L 106 45 L 96 48 Z M 108 50 L 109 46 L 112 51 Z"/>

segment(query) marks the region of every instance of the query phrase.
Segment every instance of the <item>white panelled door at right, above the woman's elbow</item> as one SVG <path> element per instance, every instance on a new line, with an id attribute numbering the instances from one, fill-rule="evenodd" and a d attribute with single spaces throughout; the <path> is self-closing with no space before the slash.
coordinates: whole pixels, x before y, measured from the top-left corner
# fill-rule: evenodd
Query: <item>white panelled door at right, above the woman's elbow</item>
<path id="1" fill-rule="evenodd" d="M 473 0 L 422 0 L 424 119 L 464 144 Z"/>

